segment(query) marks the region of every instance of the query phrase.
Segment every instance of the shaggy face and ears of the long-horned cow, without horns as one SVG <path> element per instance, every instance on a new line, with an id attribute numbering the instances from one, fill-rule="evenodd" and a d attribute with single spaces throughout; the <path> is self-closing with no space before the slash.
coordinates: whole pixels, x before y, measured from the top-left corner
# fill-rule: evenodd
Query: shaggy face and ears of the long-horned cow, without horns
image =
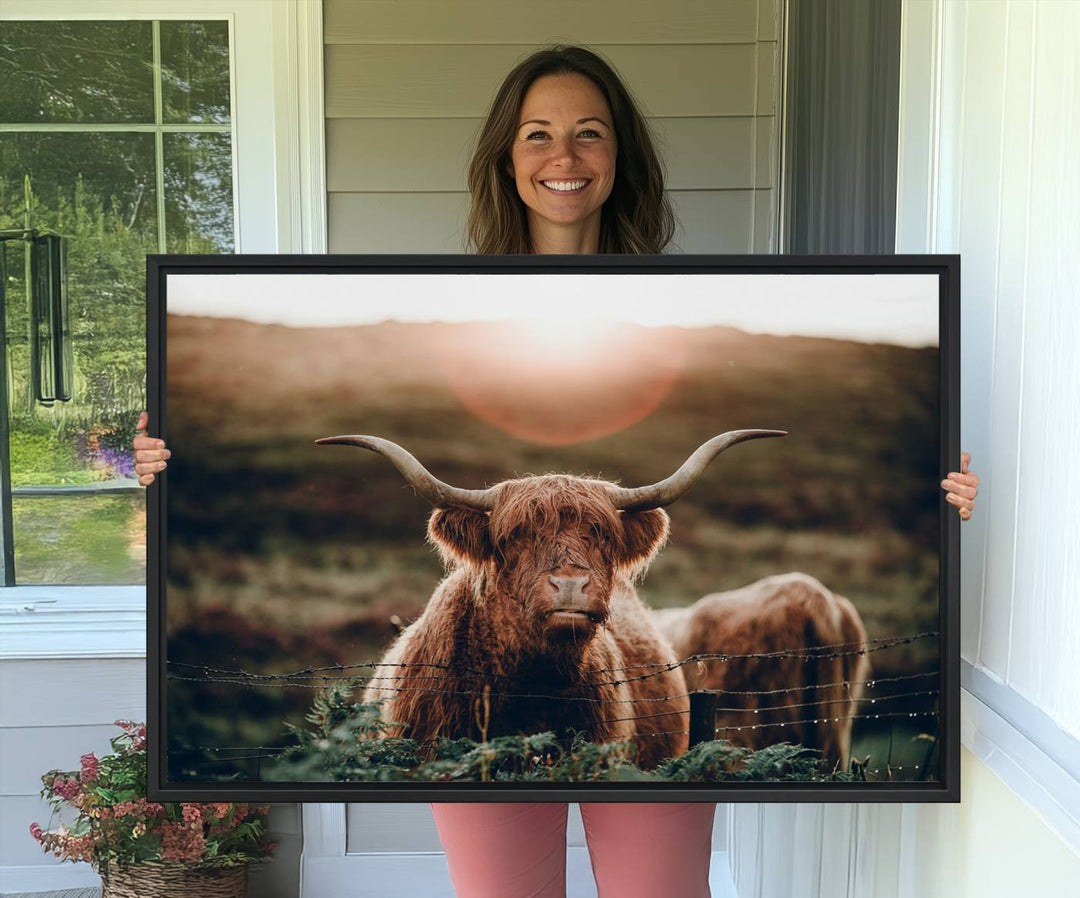
<path id="1" fill-rule="evenodd" d="M 581 644 L 606 622 L 617 578 L 657 553 L 667 514 L 619 511 L 602 481 L 546 474 L 500 484 L 490 512 L 441 509 L 428 531 L 449 564 L 484 571 L 530 635 Z"/>

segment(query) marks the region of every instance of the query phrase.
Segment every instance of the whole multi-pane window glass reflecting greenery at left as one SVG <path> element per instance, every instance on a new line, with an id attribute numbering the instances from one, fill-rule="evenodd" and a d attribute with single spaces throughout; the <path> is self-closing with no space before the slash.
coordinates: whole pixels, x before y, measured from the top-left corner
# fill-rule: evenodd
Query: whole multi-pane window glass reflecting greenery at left
<path id="1" fill-rule="evenodd" d="M 4 24 L 8 585 L 145 579 L 131 453 L 146 405 L 145 255 L 235 249 L 229 31 L 224 19 Z M 39 401 L 30 377 L 25 238 L 43 232 L 67 243 L 68 402 Z"/>

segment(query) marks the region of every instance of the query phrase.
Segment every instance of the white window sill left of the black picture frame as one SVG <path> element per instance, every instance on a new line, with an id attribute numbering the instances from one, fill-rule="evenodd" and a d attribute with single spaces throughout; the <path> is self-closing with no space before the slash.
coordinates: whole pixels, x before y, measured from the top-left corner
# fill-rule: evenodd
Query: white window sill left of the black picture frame
<path id="1" fill-rule="evenodd" d="M 0 590 L 0 659 L 145 657 L 145 586 Z"/>

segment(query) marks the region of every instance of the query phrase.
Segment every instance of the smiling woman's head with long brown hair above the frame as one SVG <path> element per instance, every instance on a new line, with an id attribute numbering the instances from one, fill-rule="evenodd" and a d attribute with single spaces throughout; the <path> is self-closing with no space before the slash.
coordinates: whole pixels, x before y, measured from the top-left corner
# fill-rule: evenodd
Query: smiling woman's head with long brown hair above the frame
<path id="1" fill-rule="evenodd" d="M 633 96 L 596 54 L 530 55 L 491 103 L 469 166 L 469 242 L 483 254 L 662 253 L 675 231 Z"/>

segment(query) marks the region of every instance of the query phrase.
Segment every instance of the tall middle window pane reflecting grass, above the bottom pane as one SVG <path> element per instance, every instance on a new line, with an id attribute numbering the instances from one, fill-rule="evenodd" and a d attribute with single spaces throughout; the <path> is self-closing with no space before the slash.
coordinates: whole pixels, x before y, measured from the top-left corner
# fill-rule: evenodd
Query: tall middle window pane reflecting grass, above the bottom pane
<path id="1" fill-rule="evenodd" d="M 152 134 L 0 134 L 0 229 L 29 223 L 68 238 L 75 362 L 72 401 L 36 402 L 25 244 L 5 242 L 14 486 L 125 475 L 110 453 L 130 454 L 145 404 L 145 256 L 157 251 L 154 196 Z"/>

